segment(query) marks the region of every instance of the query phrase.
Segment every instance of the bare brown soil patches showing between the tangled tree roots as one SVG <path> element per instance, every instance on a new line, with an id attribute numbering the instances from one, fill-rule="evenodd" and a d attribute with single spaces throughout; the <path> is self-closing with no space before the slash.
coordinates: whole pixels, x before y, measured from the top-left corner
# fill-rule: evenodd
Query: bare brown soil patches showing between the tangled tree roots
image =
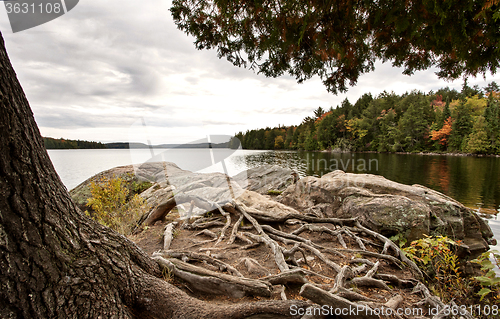
<path id="1" fill-rule="evenodd" d="M 222 222 L 225 221 L 225 218 L 222 215 L 219 215 L 219 217 Z M 170 247 L 171 250 L 190 251 L 190 252 L 207 254 L 213 258 L 217 258 L 227 264 L 230 264 L 231 266 L 235 267 L 238 271 L 240 271 L 243 276 L 247 278 L 258 279 L 265 277 L 266 275 L 269 274 L 279 273 L 279 269 L 276 266 L 274 260 L 274 255 L 272 254 L 271 250 L 264 244 L 261 244 L 257 247 L 250 249 L 243 249 L 243 247 L 246 246 L 247 243 L 243 243 L 239 239 L 236 239 L 232 245 L 228 246 L 226 244 L 226 241 L 230 236 L 232 226 L 234 226 L 234 222 L 238 219 L 237 216 L 231 215 L 231 220 L 233 224 L 226 231 L 225 239 L 221 243 L 219 243 L 219 245 L 217 245 L 216 247 L 214 247 L 215 241 L 206 242 L 211 238 L 203 234 L 200 235 L 199 234 L 201 231 L 200 229 L 196 230 L 186 229 L 183 227 L 183 225 L 188 221 L 185 220 L 180 221 L 178 220 L 178 218 L 179 214 L 176 211 L 172 211 L 167 215 L 165 220 L 158 221 L 154 225 L 145 228 L 142 232 L 136 235 L 129 236 L 129 238 L 132 241 L 134 241 L 140 248 L 142 248 L 148 255 L 151 256 L 154 252 L 163 249 L 163 231 L 165 229 L 165 226 L 172 221 L 178 221 L 179 224 L 177 225 L 174 231 L 173 241 Z M 332 230 L 335 230 L 335 227 L 338 227 L 328 223 L 315 224 L 315 225 L 326 226 Z M 243 230 L 241 229 L 242 226 Z M 300 225 L 271 224 L 271 226 L 283 232 L 291 233 L 292 231 L 296 230 Z M 222 227 L 221 226 L 210 227 L 208 229 L 211 230 L 213 233 L 219 235 Z M 246 231 L 256 234 L 256 231 L 248 222 L 246 222 L 244 225 L 240 225 L 240 232 L 241 231 Z M 360 238 L 364 238 L 367 241 L 373 242 L 374 245 L 369 245 L 365 243 L 367 250 L 380 253 L 383 247 L 383 243 L 377 241 L 377 239 L 373 237 L 368 236 L 367 234 L 357 233 L 357 235 Z M 334 237 L 327 233 L 305 231 L 300 234 L 300 237 L 311 240 L 312 242 L 321 245 L 323 247 L 336 249 L 342 254 L 344 254 L 345 257 L 341 257 L 333 253 L 322 251 L 325 256 L 330 258 L 331 261 L 337 263 L 341 267 L 346 264 L 351 265 L 352 267 L 356 267 L 357 264 L 349 263 L 349 260 L 354 258 L 364 258 L 370 260 L 373 263 L 377 261 L 380 262 L 380 266 L 377 271 L 378 274 L 392 274 L 392 275 L 397 275 L 397 277 L 400 279 L 414 279 L 414 276 L 412 275 L 408 267 L 400 269 L 399 267 L 397 267 L 396 264 L 385 259 L 377 259 L 374 257 L 362 256 L 361 254 L 356 252 L 345 251 L 345 249 L 341 246 L 336 236 Z M 358 250 L 358 251 L 360 250 L 360 246 L 353 238 L 345 235 L 343 236 L 343 238 L 345 243 L 347 244 L 348 249 Z M 201 242 L 204 241 L 205 243 L 200 244 Z M 282 247 L 286 247 L 286 249 L 292 248 L 292 245 L 284 245 L 282 243 L 279 244 Z M 337 272 L 331 269 L 324 262 L 319 260 L 318 257 L 312 255 L 311 253 L 308 253 L 307 262 L 304 261 L 304 258 L 300 252 L 297 252 L 294 257 L 297 260 L 300 260 L 299 266 L 302 267 L 303 269 L 311 270 L 317 274 L 329 277 L 325 278 L 309 274 L 306 276 L 306 278 L 310 283 L 316 284 L 318 287 L 321 287 L 327 291 L 333 286 Z M 243 258 L 252 258 L 258 261 L 260 265 L 267 270 L 268 273 L 266 274 L 265 273 L 266 271 L 263 271 L 261 273 L 249 272 L 245 264 L 241 262 Z M 191 263 L 197 266 L 217 271 L 214 266 L 208 265 L 203 262 L 191 262 Z M 365 271 L 369 270 L 370 268 L 371 267 L 368 267 Z M 360 276 L 363 276 L 363 274 L 361 274 Z M 169 280 L 171 283 L 178 286 L 180 289 L 184 290 L 191 296 L 194 296 L 201 300 L 213 302 L 214 304 L 236 303 L 236 302 L 267 299 L 263 297 L 253 297 L 253 296 L 246 296 L 240 299 L 235 299 L 235 298 L 230 298 L 228 296 L 207 295 L 204 293 L 197 292 L 195 289 L 193 289 L 193 287 L 189 287 L 187 283 L 184 283 L 179 279 L 167 276 L 166 280 Z M 396 286 L 391 285 L 388 282 L 387 284 L 391 288 L 391 290 L 385 290 L 373 287 L 354 287 L 353 290 L 366 297 L 376 299 L 381 304 L 386 303 L 391 297 L 399 294 L 403 297 L 404 300 L 403 303 L 400 305 L 401 308 L 414 308 L 413 303 L 416 303 L 421 299 L 419 295 L 412 294 L 411 289 L 409 288 L 398 288 Z M 285 287 L 285 294 L 287 299 L 304 300 L 304 298 L 302 298 L 299 295 L 300 288 L 301 288 L 300 285 L 287 285 Z M 281 297 L 279 293 L 276 293 L 270 299 L 281 299 Z M 424 315 L 425 315 L 425 310 L 424 310 Z"/>

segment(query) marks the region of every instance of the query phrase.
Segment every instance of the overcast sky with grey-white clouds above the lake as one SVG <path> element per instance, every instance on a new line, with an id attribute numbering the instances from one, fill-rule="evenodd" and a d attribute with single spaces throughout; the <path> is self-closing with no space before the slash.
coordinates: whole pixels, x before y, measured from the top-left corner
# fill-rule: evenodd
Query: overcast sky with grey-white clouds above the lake
<path id="1" fill-rule="evenodd" d="M 348 93 L 326 92 L 318 78 L 269 79 L 197 51 L 176 29 L 170 1 L 80 1 L 64 16 L 12 33 L 3 6 L 0 30 L 43 136 L 101 142 L 182 143 L 208 134 L 299 124 L 318 106 L 363 93 L 460 90 L 462 80 L 414 76 L 390 64 L 362 76 Z M 500 76 L 469 79 L 500 83 Z"/>

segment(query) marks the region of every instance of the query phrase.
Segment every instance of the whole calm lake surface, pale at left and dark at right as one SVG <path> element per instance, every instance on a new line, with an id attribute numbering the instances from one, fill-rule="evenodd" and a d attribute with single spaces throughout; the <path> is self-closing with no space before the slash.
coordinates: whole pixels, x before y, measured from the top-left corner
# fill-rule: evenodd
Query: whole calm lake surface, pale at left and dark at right
<path id="1" fill-rule="evenodd" d="M 490 212 L 500 209 L 500 158 L 471 156 L 433 156 L 372 153 L 319 153 L 288 151 L 250 151 L 208 149 L 134 150 L 49 150 L 56 171 L 68 189 L 106 169 L 157 160 L 176 163 L 190 171 L 224 172 L 229 175 L 262 164 L 276 164 L 299 172 L 301 176 L 322 176 L 335 169 L 370 173 L 403 184 L 420 184 L 458 200 L 465 206 Z M 216 162 L 217 164 L 211 165 Z M 500 241 L 500 222 L 489 220 Z M 497 249 L 500 247 L 496 247 Z"/>

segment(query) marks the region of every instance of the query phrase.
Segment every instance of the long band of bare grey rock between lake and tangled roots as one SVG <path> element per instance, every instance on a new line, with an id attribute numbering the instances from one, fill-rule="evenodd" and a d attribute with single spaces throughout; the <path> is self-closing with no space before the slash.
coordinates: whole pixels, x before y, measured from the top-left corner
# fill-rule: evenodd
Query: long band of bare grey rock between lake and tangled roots
<path id="1" fill-rule="evenodd" d="M 78 185 L 70 193 L 80 208 L 90 197 L 90 183 L 102 177 L 121 177 L 127 183 L 152 182 L 154 185 L 141 194 L 151 208 L 180 194 L 220 205 L 239 198 L 250 208 L 255 206 L 276 216 L 293 211 L 317 217 L 356 217 L 376 232 L 385 236 L 401 234 L 408 241 L 424 235 L 448 236 L 461 240 L 472 255 L 495 244 L 489 226 L 456 200 L 421 185 L 404 185 L 378 175 L 337 170 L 321 178 L 308 176 L 296 181 L 293 171 L 266 165 L 228 178 L 222 173 L 193 173 L 169 162 L 144 163 L 116 167 Z M 279 207 L 257 194 L 269 190 L 284 190 L 277 198 Z M 178 204 L 181 215 L 206 212 L 189 201 Z"/>

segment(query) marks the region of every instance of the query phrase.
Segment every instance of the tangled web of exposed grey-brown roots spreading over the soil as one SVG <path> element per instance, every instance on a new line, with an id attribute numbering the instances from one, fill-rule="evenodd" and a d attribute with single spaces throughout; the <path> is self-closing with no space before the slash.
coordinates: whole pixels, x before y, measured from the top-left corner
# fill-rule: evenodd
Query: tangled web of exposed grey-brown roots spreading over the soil
<path id="1" fill-rule="evenodd" d="M 176 199 L 178 197 L 176 196 Z M 422 273 L 404 256 L 397 245 L 385 236 L 362 226 L 354 218 L 322 218 L 294 213 L 273 217 L 236 201 L 223 206 L 193 196 L 180 196 L 177 201 L 189 201 L 192 206 L 210 210 L 212 214 L 218 212 L 217 216 L 198 218 L 192 224 L 185 223 L 186 231 L 202 229 L 191 236 L 204 235 L 211 239 L 195 243 L 182 251 L 167 250 L 171 247 L 171 244 L 167 245 L 167 238 L 171 238 L 170 242 L 173 240 L 175 225 L 172 223 L 165 229 L 166 249 L 154 254 L 154 259 L 161 268 L 188 283 L 192 291 L 233 298 L 274 298 L 276 300 L 267 304 L 273 305 L 290 299 L 285 292 L 288 288 L 285 287 L 301 287 L 300 296 L 319 306 L 357 309 L 355 315 L 342 314 L 339 318 L 378 318 L 373 309 L 400 307 L 405 303 L 400 292 L 407 291 L 406 294 L 409 294 L 412 288 L 424 295 L 424 300 L 415 306 L 443 306 L 439 299 L 432 296 L 418 281 Z M 151 222 L 164 218 L 165 212 L 172 208 L 171 204 L 172 199 L 161 203 L 159 207 L 163 210 L 163 215 L 157 207 L 147 220 Z M 231 215 L 236 218 L 233 219 Z M 221 217 L 225 222 L 221 221 Z M 251 226 L 244 226 L 244 223 Z M 217 233 L 208 229 L 221 226 Z M 228 231 L 230 235 L 226 237 Z M 321 240 L 318 241 L 318 238 Z M 265 248 L 260 247 L 261 245 Z M 199 251 L 217 251 L 217 254 L 212 257 L 189 251 L 196 246 L 203 246 Z M 223 258 L 227 259 L 232 249 L 242 251 L 254 248 L 264 251 L 268 249 L 268 257 L 264 259 L 272 256 L 271 260 L 274 262 L 263 263 L 264 260 L 247 256 L 233 260 L 231 265 L 219 257 L 215 258 L 225 256 Z M 339 259 L 343 261 L 340 263 L 343 266 L 337 262 Z M 198 264 L 189 264 L 187 261 Z M 380 269 L 387 272 L 388 267 L 394 269 L 393 266 L 396 266 L 396 269 L 410 269 L 413 277 L 409 272 L 405 277 L 379 273 Z M 242 272 L 258 279 L 245 277 Z M 387 283 L 395 288 L 389 287 Z M 385 297 L 385 300 L 388 301 L 384 303 L 381 297 L 372 297 L 366 291 L 363 294 L 363 289 L 366 289 L 364 287 L 377 289 L 382 294 L 386 292 L 389 297 Z M 310 309 L 318 310 L 318 306 L 312 307 Z M 395 317 L 400 318 L 397 315 Z M 303 318 L 323 316 L 309 314 Z"/>

